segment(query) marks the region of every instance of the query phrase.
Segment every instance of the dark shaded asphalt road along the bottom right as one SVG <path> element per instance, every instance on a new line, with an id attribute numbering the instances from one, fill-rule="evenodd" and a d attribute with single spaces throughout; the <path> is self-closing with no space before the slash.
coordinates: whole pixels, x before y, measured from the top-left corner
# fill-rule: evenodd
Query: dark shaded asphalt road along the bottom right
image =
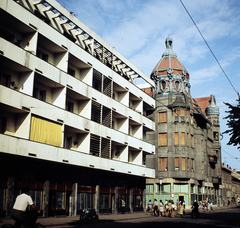
<path id="1" fill-rule="evenodd" d="M 211 212 L 201 212 L 197 219 L 191 218 L 187 213 L 185 217 L 154 217 L 152 215 L 144 215 L 128 219 L 124 215 L 121 219 L 111 220 L 100 216 L 98 223 L 79 224 L 78 221 L 68 223 L 66 225 L 47 226 L 59 228 L 78 228 L 78 227 L 98 227 L 98 228 L 240 228 L 240 208 L 232 208 L 228 210 L 218 210 Z"/>

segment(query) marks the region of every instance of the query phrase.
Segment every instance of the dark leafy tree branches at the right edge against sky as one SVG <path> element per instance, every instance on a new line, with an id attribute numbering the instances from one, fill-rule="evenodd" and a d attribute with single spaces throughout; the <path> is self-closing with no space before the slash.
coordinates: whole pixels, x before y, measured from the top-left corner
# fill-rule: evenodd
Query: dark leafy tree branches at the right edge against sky
<path id="1" fill-rule="evenodd" d="M 236 106 L 224 102 L 230 110 L 225 111 L 228 116 L 224 117 L 224 119 L 228 119 L 227 126 L 229 129 L 224 131 L 223 134 L 231 136 L 227 145 L 238 146 L 237 148 L 240 149 L 240 97 L 237 102 Z"/>

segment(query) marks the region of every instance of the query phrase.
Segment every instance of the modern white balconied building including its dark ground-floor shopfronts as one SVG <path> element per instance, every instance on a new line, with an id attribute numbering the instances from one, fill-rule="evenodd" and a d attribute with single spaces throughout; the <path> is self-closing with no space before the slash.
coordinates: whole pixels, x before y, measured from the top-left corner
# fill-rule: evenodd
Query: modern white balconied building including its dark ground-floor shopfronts
<path id="1" fill-rule="evenodd" d="M 155 83 L 54 0 L 0 1 L 0 213 L 143 210 Z M 155 168 L 155 167 L 154 167 Z"/>

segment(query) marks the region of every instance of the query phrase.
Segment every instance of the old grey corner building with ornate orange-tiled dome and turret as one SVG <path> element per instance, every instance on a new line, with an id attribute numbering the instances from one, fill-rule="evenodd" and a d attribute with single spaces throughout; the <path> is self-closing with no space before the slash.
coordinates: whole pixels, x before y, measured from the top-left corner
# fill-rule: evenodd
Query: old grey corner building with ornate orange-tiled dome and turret
<path id="1" fill-rule="evenodd" d="M 147 180 L 147 200 L 156 198 L 185 201 L 221 200 L 221 144 L 219 108 L 215 97 L 193 99 L 189 73 L 166 39 L 166 51 L 151 73 L 153 90 L 144 91 L 156 99 L 151 114 L 156 131 L 147 134 L 155 144 L 147 166 L 156 170 Z"/>

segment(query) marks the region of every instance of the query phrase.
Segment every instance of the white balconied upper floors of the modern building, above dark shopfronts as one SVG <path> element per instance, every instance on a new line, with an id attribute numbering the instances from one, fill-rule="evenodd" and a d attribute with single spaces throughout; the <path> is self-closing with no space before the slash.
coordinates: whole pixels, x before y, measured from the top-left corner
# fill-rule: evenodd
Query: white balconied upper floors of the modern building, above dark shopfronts
<path id="1" fill-rule="evenodd" d="M 134 79 L 154 82 L 54 0 L 1 0 L 0 19 L 0 160 L 155 177 L 155 100 Z M 34 118 L 55 130 L 36 136 Z"/>

